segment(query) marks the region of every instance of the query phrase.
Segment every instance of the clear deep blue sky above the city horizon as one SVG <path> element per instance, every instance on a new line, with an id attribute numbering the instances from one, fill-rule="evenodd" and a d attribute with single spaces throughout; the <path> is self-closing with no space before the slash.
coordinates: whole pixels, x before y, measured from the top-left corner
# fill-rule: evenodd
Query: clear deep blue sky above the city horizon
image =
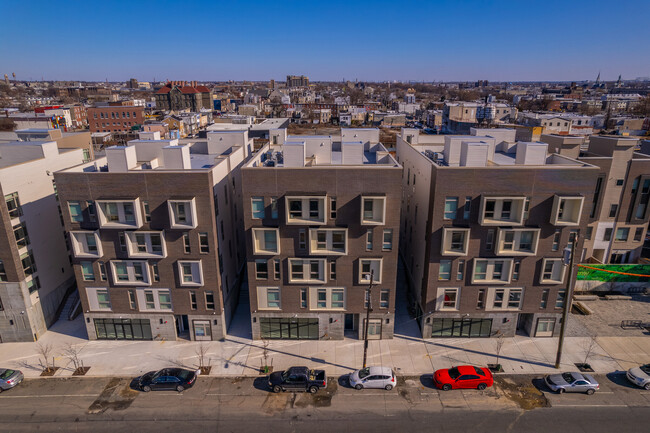
<path id="1" fill-rule="evenodd" d="M 582 81 L 650 76 L 649 0 L 2 2 L 0 77 Z"/>

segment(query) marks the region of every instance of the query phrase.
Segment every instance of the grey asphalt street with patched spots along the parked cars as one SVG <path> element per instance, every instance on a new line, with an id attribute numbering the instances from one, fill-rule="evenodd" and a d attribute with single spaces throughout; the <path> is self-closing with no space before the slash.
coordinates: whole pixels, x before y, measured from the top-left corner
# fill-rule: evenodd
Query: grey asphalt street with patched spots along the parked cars
<path id="1" fill-rule="evenodd" d="M 332 378 L 315 395 L 273 394 L 264 378 L 200 377 L 182 393 L 142 393 L 132 378 L 26 380 L 0 394 L 1 432 L 642 432 L 650 391 L 597 376 L 592 396 L 557 395 L 538 376 L 499 376 L 485 391 L 438 391 L 430 375 L 392 391 Z"/>

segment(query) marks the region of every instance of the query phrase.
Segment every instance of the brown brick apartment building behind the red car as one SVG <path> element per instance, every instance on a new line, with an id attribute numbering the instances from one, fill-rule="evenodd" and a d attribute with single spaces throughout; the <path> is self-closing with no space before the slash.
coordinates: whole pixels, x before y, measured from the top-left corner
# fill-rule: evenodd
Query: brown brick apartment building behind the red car
<path id="1" fill-rule="evenodd" d="M 511 129 L 471 132 L 397 138 L 400 249 L 422 335 L 556 335 L 563 249 L 582 249 L 598 168 Z"/>

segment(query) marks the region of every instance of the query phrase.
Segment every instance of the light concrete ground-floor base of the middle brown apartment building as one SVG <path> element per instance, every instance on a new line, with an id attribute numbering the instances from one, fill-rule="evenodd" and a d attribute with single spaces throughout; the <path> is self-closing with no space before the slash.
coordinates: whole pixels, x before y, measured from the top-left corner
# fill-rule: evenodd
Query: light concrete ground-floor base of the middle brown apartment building
<path id="1" fill-rule="evenodd" d="M 365 314 L 275 313 L 251 314 L 254 340 L 343 340 L 346 336 L 363 339 Z M 393 312 L 370 315 L 369 339 L 393 338 Z"/>

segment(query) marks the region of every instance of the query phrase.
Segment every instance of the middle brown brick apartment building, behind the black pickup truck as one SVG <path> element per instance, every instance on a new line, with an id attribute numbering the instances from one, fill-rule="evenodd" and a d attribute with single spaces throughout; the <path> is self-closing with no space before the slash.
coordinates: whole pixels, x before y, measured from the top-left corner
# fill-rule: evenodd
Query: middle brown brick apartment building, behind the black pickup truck
<path id="1" fill-rule="evenodd" d="M 392 338 L 401 166 L 377 129 L 270 131 L 242 169 L 254 339 Z"/>

